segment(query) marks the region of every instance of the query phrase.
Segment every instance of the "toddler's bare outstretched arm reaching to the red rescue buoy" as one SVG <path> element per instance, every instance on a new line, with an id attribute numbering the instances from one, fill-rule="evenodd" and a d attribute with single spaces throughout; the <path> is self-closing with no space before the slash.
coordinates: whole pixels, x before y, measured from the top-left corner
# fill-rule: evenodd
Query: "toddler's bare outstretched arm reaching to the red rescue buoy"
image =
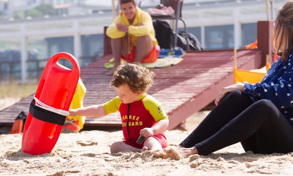
<path id="1" fill-rule="evenodd" d="M 88 117 L 101 117 L 106 116 L 107 113 L 104 110 L 104 104 L 91 105 L 87 107 L 69 109 L 68 116 L 88 116 Z"/>

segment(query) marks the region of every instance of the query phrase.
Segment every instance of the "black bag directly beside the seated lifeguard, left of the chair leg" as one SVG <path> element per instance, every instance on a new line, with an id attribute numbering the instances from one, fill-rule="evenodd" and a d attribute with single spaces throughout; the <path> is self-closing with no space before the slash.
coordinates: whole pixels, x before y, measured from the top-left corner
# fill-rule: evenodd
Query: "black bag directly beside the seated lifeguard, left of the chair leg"
<path id="1" fill-rule="evenodd" d="M 173 31 L 166 21 L 154 21 L 153 26 L 155 29 L 156 39 L 160 45 L 160 48 L 169 49 L 173 43 Z"/>

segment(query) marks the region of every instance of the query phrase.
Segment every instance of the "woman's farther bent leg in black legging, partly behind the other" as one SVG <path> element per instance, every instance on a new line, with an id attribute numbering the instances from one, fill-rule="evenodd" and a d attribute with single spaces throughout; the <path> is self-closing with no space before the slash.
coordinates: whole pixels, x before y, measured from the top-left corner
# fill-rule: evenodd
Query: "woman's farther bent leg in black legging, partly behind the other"
<path id="1" fill-rule="evenodd" d="M 241 91 L 233 91 L 207 115 L 207 117 L 187 136 L 180 145 L 185 148 L 194 147 L 212 136 L 225 126 L 231 119 L 238 116 L 253 100 Z"/>

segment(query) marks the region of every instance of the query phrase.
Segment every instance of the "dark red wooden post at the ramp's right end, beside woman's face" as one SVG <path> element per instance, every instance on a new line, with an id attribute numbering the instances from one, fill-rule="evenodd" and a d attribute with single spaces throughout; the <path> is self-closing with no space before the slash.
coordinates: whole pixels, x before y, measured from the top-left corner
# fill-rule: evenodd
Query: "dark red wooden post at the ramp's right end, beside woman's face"
<path id="1" fill-rule="evenodd" d="M 272 64 L 274 53 L 272 52 L 273 34 L 272 28 L 274 27 L 272 21 L 258 21 L 257 23 L 257 47 L 261 50 L 261 61 L 255 60 L 255 65 L 264 66 L 266 63 L 266 55 L 269 55 L 269 63 Z M 260 63 L 259 63 L 260 62 Z"/>

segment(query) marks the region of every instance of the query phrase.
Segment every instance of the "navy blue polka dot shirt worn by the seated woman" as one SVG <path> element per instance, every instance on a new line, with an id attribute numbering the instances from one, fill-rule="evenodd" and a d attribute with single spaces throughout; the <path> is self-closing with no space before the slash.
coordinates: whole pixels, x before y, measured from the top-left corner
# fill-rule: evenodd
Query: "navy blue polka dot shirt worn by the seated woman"
<path id="1" fill-rule="evenodd" d="M 270 100 L 293 127 L 293 51 L 285 63 L 281 57 L 274 62 L 260 83 L 245 83 L 244 93 L 255 101 Z"/>

